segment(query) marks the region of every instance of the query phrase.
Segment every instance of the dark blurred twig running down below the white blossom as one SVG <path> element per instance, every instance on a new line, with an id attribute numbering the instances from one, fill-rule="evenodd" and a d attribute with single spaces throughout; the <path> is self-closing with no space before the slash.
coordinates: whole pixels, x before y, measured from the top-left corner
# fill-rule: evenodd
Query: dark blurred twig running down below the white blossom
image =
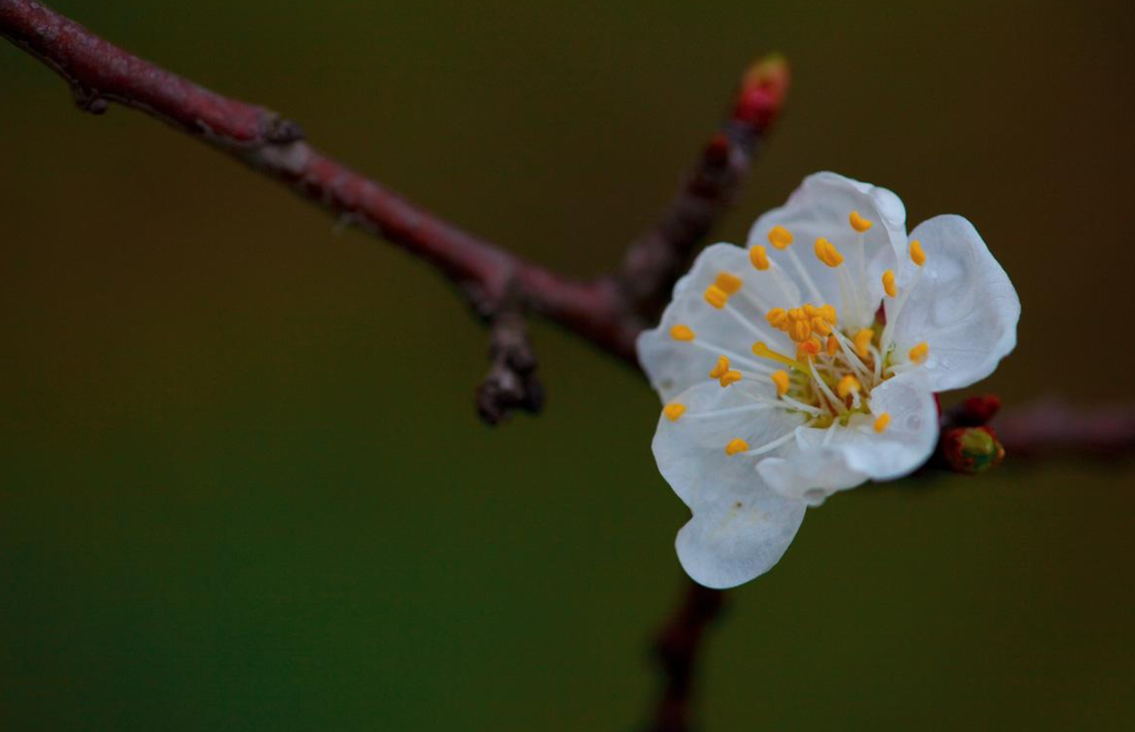
<path id="1" fill-rule="evenodd" d="M 717 619 L 725 594 L 686 580 L 684 597 L 658 632 L 655 654 L 665 683 L 648 732 L 688 732 L 693 715 L 693 671 L 707 628 Z"/>

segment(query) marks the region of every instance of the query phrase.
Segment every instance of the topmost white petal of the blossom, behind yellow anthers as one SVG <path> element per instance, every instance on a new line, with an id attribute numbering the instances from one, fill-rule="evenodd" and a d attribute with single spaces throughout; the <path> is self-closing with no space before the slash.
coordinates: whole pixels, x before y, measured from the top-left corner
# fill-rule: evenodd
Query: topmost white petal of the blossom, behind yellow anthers
<path id="1" fill-rule="evenodd" d="M 860 235 L 851 228 L 848 217 L 852 211 L 873 222 L 866 233 Z M 768 233 L 775 226 L 783 226 L 793 236 L 785 251 L 768 244 Z M 860 237 L 863 259 L 857 254 Z M 846 269 L 856 284 L 858 308 L 843 301 L 836 269 L 816 258 L 817 238 L 826 238 L 843 254 L 844 262 L 836 269 Z M 866 327 L 874 320 L 883 297 L 883 272 L 896 267 L 897 253 L 906 249 L 906 209 L 885 188 L 834 173 L 817 173 L 805 178 L 784 205 L 757 219 L 749 232 L 749 246 L 756 245 L 767 247 L 770 259 L 797 281 L 805 301 L 835 305 L 844 327 Z M 792 254 L 804 274 L 792 261 Z"/>

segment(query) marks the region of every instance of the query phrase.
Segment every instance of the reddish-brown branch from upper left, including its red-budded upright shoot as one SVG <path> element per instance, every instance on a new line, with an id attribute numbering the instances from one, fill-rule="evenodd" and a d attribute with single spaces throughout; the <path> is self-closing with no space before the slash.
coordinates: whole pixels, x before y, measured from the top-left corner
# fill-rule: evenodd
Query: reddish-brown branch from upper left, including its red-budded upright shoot
<path id="1" fill-rule="evenodd" d="M 133 56 L 32 0 L 0 0 L 0 35 L 39 58 L 69 85 L 81 109 L 131 107 L 201 140 L 288 185 L 339 220 L 354 224 L 430 262 L 466 296 L 494 331 L 494 368 L 478 404 L 489 421 L 535 409 L 535 359 L 523 328 L 502 313 L 531 310 L 599 348 L 634 361 L 634 337 L 665 303 L 701 237 L 745 178 L 753 151 L 775 119 L 785 65 L 755 66 L 742 79 L 729 121 L 701 154 L 662 222 L 631 247 L 623 269 L 591 281 L 561 277 L 468 234 L 303 140 L 299 125 L 274 111 L 221 96 Z M 505 306 L 506 300 L 516 306 Z M 507 334 L 507 335 L 506 335 Z M 511 345 L 503 347 L 507 340 Z M 508 352 L 511 355 L 501 357 Z M 524 355 L 521 356 L 520 354 Z M 516 365 L 518 363 L 522 365 Z M 527 382 L 518 396 L 510 384 Z"/>

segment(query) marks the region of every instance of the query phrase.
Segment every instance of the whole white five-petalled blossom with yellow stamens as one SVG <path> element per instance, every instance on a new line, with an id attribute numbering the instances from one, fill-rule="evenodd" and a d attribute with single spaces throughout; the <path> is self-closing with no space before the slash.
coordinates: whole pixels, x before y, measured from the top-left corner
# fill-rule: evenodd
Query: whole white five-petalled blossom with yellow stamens
<path id="1" fill-rule="evenodd" d="M 676 540 L 689 575 L 747 582 L 808 506 L 922 465 L 934 393 L 992 373 L 1019 315 L 969 221 L 908 236 L 898 196 L 832 173 L 757 219 L 746 249 L 707 247 L 638 340 L 665 405 L 654 455 L 693 514 Z"/>

